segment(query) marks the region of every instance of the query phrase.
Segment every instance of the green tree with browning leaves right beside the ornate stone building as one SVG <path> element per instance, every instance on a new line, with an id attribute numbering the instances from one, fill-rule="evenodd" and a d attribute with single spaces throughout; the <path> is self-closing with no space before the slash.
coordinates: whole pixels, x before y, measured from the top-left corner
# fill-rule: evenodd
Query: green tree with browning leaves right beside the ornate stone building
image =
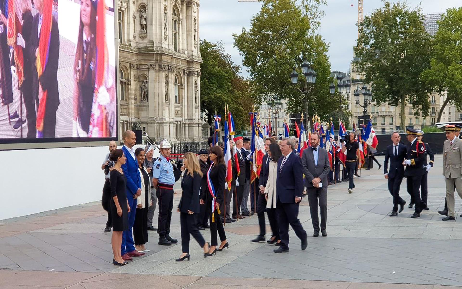
<path id="1" fill-rule="evenodd" d="M 201 111 L 205 121 L 213 123 L 215 111 L 225 116 L 225 105 L 231 111 L 236 129 L 249 126 L 249 107 L 253 107 L 249 82 L 240 75 L 240 68 L 225 52 L 223 43 L 201 40 Z M 224 121 L 224 119 L 222 119 Z"/>

